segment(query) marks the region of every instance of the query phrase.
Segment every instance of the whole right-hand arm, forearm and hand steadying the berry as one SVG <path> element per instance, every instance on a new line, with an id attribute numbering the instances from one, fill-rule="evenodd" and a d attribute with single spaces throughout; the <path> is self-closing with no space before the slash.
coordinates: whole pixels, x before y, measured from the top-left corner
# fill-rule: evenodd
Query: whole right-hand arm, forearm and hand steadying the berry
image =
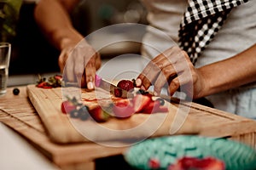
<path id="1" fill-rule="evenodd" d="M 211 65 L 195 68 L 180 48 L 169 48 L 155 57 L 137 77 L 137 85 L 148 89 L 154 84 L 154 93 L 160 94 L 168 79 L 168 90 L 172 95 L 183 86 L 192 99 L 199 99 L 230 88 L 256 82 L 256 44 Z M 173 77 L 170 79 L 170 77 Z M 187 88 L 189 87 L 189 88 Z"/>

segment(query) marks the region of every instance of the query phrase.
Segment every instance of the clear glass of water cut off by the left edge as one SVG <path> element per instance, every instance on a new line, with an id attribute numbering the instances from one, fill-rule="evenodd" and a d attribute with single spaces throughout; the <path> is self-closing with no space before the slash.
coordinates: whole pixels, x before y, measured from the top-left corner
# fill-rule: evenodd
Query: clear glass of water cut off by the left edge
<path id="1" fill-rule="evenodd" d="M 0 42 L 0 96 L 6 94 L 10 54 L 11 44 L 9 42 Z"/>

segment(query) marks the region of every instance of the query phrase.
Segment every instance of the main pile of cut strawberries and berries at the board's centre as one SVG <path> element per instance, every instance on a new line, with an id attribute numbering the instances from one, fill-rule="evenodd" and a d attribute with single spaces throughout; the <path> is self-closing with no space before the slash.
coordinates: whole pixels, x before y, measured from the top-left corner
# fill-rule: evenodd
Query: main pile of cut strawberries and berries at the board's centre
<path id="1" fill-rule="evenodd" d="M 127 91 L 133 90 L 135 81 L 121 80 L 118 87 Z M 117 88 L 118 89 L 118 88 Z M 119 97 L 115 91 L 115 97 Z M 120 93 L 122 93 L 120 91 Z M 97 105 L 94 108 L 89 108 L 86 105 L 80 104 L 77 99 L 68 99 L 61 103 L 61 111 L 69 114 L 73 118 L 87 120 L 92 117 L 96 122 L 106 122 L 112 116 L 116 118 L 128 118 L 135 113 L 159 113 L 168 112 L 164 99 L 153 99 L 153 96 L 148 92 L 140 89 L 133 98 L 115 100 L 112 104 L 102 107 Z"/>

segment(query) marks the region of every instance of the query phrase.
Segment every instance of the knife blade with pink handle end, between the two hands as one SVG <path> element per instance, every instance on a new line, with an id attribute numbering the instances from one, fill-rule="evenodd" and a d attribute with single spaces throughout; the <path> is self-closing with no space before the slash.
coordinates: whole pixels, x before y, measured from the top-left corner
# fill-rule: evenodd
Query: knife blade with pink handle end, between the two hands
<path id="1" fill-rule="evenodd" d="M 116 94 L 119 94 L 117 97 L 120 98 L 133 98 L 135 95 L 134 91 L 126 91 L 122 88 L 119 88 L 113 83 L 104 80 L 102 77 L 99 77 L 98 75 L 96 75 L 95 86 L 96 88 L 102 88 L 108 91 L 110 94 L 113 94 L 114 96 L 116 96 Z"/>

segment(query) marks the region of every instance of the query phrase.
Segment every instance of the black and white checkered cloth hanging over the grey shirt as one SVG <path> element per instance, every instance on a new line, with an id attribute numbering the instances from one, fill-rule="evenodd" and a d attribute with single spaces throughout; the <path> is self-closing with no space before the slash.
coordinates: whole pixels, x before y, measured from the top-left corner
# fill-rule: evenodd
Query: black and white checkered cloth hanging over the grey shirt
<path id="1" fill-rule="evenodd" d="M 201 52 L 223 26 L 231 9 L 247 1 L 189 0 L 178 36 L 179 46 L 189 54 L 194 65 Z"/>

